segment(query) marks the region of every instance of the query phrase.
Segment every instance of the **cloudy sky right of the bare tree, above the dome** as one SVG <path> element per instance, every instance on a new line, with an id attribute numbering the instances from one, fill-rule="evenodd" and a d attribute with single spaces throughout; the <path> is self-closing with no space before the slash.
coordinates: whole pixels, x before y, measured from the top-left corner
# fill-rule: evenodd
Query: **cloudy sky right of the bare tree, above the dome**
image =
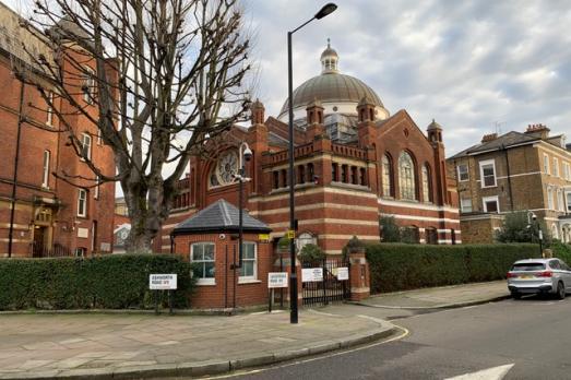
<path id="1" fill-rule="evenodd" d="M 247 0 L 258 96 L 277 115 L 287 96 L 286 34 L 326 1 Z M 371 86 L 392 114 L 444 128 L 447 155 L 483 134 L 544 123 L 571 142 L 571 2 L 337 1 L 294 35 L 294 87 L 320 73 L 331 38 L 340 70 Z"/>

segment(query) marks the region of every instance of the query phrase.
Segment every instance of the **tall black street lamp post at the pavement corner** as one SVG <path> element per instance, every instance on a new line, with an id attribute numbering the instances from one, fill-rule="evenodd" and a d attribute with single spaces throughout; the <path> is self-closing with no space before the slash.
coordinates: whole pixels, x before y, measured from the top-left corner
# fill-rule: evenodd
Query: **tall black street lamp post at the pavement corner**
<path id="1" fill-rule="evenodd" d="M 323 5 L 321 10 L 316 13 L 313 17 L 306 21 L 304 24 L 299 25 L 292 32 L 287 32 L 287 103 L 289 111 L 289 230 L 295 229 L 295 191 L 294 191 L 294 105 L 293 100 L 293 73 L 292 73 L 292 35 L 309 24 L 313 20 L 320 20 L 326 16 L 328 14 L 334 12 L 337 9 L 337 5 L 330 2 Z M 298 321 L 298 311 L 297 311 L 297 274 L 296 274 L 296 249 L 295 249 L 295 239 L 289 239 L 289 322 L 297 323 Z"/>

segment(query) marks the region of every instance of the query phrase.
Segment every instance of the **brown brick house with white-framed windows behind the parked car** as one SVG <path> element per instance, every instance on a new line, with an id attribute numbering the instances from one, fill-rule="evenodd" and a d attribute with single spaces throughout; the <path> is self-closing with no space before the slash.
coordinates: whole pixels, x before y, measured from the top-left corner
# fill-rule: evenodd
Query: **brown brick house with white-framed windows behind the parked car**
<path id="1" fill-rule="evenodd" d="M 554 238 L 571 241 L 571 150 L 543 124 L 487 134 L 447 159 L 455 178 L 464 242 L 489 242 L 503 214 L 532 211 Z"/>

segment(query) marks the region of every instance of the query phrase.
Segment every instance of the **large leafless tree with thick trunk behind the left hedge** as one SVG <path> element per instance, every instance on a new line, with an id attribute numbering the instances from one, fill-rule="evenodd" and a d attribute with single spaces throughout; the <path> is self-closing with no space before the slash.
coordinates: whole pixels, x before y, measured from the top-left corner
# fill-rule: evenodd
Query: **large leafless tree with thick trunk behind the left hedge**
<path id="1" fill-rule="evenodd" d="M 69 112 L 53 106 L 44 82 L 28 83 L 94 178 L 120 182 L 131 218 L 127 251 L 150 252 L 190 157 L 246 116 L 249 40 L 237 0 L 36 0 L 24 26 L 52 47 L 53 59 L 32 59 L 72 114 L 97 127 L 115 153 L 116 177 L 83 154 Z M 166 165 L 174 170 L 164 177 Z"/>

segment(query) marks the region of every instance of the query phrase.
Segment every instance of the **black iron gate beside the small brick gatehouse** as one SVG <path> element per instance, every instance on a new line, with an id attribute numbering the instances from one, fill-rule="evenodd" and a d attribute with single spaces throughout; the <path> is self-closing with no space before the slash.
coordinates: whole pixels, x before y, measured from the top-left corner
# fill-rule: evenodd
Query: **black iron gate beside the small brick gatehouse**
<path id="1" fill-rule="evenodd" d="M 321 268 L 323 271 L 322 281 L 302 283 L 304 305 L 328 305 L 350 297 L 348 277 L 338 280 L 338 277 L 343 278 L 343 274 L 349 273 L 348 260 L 326 259 L 318 262 L 302 262 L 301 268 L 306 270 Z"/>

